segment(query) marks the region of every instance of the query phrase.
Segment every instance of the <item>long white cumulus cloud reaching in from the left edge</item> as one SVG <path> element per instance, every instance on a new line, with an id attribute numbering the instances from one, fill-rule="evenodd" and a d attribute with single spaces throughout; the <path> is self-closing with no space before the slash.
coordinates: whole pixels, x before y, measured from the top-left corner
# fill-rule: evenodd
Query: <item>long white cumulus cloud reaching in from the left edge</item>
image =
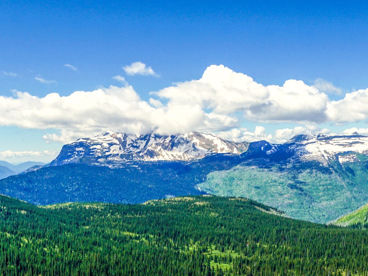
<path id="1" fill-rule="evenodd" d="M 15 97 L 0 96 L 0 125 L 83 131 L 121 125 L 126 131 L 139 132 L 151 126 L 147 117 L 155 112 L 131 86 L 76 91 L 69 96 L 50 93 L 43 98 L 15 93 Z"/>

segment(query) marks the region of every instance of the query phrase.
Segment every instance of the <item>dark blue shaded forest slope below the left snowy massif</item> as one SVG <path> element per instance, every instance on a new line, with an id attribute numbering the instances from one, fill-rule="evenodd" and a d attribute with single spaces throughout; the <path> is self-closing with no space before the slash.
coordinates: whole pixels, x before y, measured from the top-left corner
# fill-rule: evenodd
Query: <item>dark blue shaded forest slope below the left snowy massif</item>
<path id="1" fill-rule="evenodd" d="M 42 205 L 76 201 L 142 203 L 203 194 L 195 185 L 210 171 L 230 169 L 240 162 L 239 155 L 217 154 L 193 162 L 134 162 L 113 169 L 85 164 L 49 166 L 0 180 L 0 194 Z"/>

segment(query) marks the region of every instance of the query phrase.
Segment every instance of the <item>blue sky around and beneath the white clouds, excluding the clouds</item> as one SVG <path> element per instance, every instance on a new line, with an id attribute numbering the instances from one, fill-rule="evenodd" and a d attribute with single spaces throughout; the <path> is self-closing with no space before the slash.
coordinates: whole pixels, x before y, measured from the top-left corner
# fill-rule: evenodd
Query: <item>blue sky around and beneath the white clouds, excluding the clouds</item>
<path id="1" fill-rule="evenodd" d="M 223 64 L 264 86 L 283 86 L 288 79 L 311 86 L 316 79 L 323 79 L 337 90 L 320 91 L 329 101 L 340 100 L 346 93 L 368 88 L 368 7 L 364 1 L 328 2 L 1 1 L 0 96 L 16 99 L 15 90 L 38 98 L 54 92 L 68 96 L 74 91 L 124 86 L 112 79 L 120 75 L 148 102 L 153 97 L 150 92 L 198 80 L 208 66 Z M 129 75 L 123 70 L 137 61 L 151 67 L 158 77 Z M 4 98 L 0 104 L 1 100 Z M 166 104 L 167 95 L 160 100 Z M 85 124 L 88 112 L 80 118 Z M 277 142 L 284 139 L 280 135 L 276 139 L 275 131 L 280 129 L 293 130 L 289 131 L 292 135 L 302 130 L 339 133 L 368 127 L 364 116 L 349 122 L 338 118 L 316 123 L 309 117 L 305 122 L 289 117 L 270 121 L 264 116 L 243 116 L 245 109 L 237 112 L 241 114 L 226 113 L 237 118 L 236 125 L 206 130 L 229 139 L 252 139 L 256 126 L 262 126 L 264 135 L 255 138 Z M 17 116 L 9 114 L 0 110 L 0 117 Z M 117 125 L 112 125 L 114 131 L 130 129 L 120 130 Z M 42 138 L 60 135 L 61 128 L 53 126 L 57 124 L 3 122 L 0 159 L 51 160 L 63 144 Z M 233 128 L 250 133 L 231 136 L 227 131 Z M 64 129 L 78 132 L 75 125 Z M 79 133 L 92 134 L 94 130 L 98 131 L 93 128 Z M 77 134 L 68 134 L 62 141 Z"/>

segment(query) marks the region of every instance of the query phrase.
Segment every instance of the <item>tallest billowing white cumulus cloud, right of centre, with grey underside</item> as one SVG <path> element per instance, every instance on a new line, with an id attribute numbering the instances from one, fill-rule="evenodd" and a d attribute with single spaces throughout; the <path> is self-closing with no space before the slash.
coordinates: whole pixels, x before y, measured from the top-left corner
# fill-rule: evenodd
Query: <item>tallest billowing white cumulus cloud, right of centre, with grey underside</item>
<path id="1" fill-rule="evenodd" d="M 224 66 L 208 67 L 202 78 L 180 82 L 157 92 L 170 103 L 191 102 L 220 114 L 243 112 L 258 122 L 321 122 L 328 96 L 302 81 L 283 86 L 258 84 Z"/>

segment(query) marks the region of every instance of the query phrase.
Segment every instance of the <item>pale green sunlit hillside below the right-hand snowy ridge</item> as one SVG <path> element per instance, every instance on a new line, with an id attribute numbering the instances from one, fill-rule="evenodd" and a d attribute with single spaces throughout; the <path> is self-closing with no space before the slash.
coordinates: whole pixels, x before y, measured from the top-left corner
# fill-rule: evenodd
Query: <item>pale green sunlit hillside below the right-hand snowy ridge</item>
<path id="1" fill-rule="evenodd" d="M 328 223 L 368 202 L 367 158 L 328 167 L 316 162 L 244 163 L 210 172 L 201 191 L 247 197 L 296 219 Z"/>

